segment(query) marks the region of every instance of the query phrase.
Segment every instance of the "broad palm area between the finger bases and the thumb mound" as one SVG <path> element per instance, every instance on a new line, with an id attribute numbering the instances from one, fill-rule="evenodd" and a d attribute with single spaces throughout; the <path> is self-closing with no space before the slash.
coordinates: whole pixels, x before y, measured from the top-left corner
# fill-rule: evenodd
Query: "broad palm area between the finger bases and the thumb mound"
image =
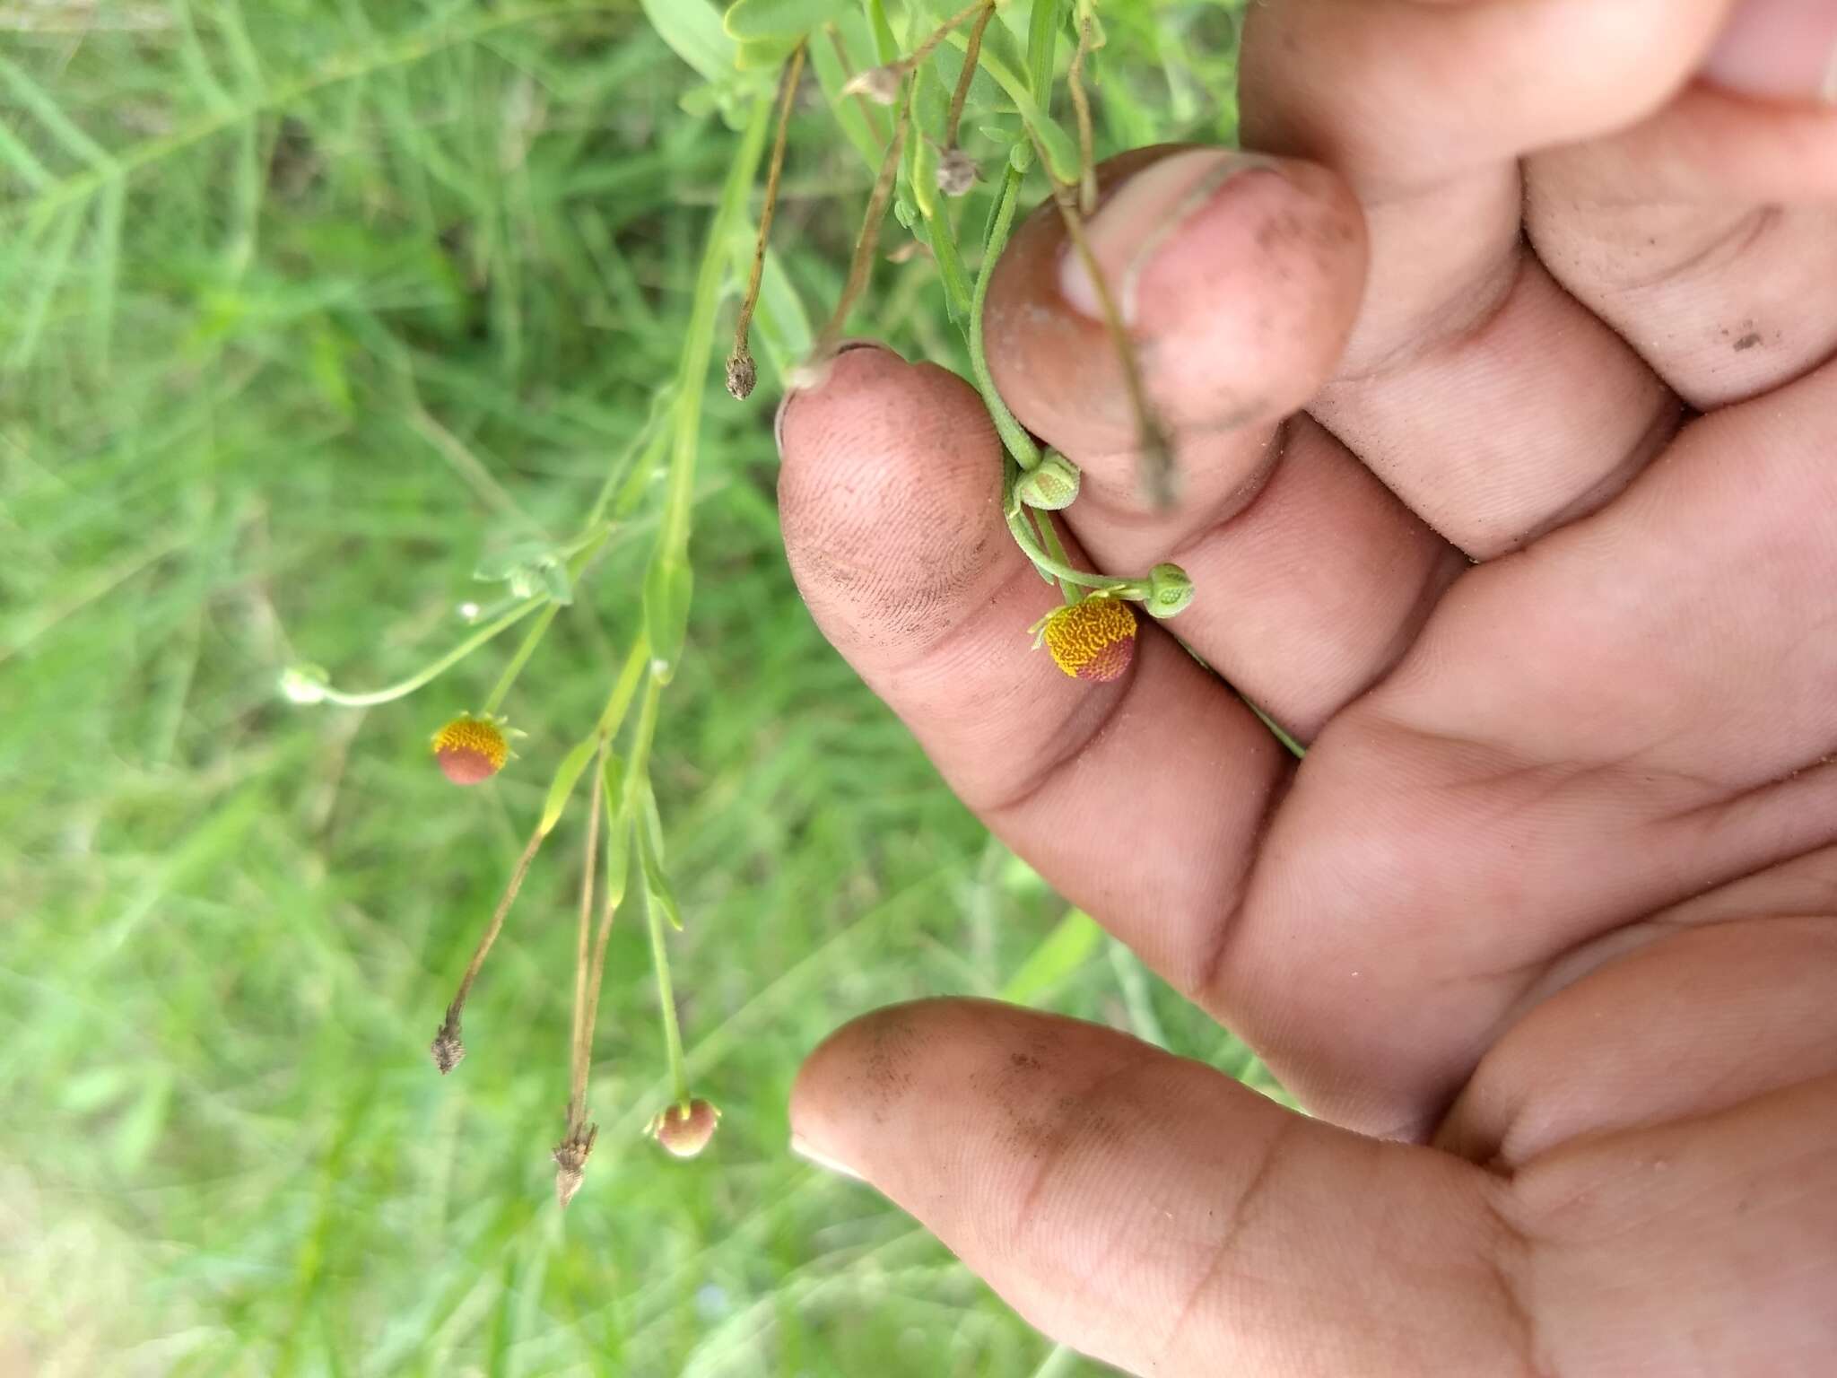
<path id="1" fill-rule="evenodd" d="M 1427 1134 L 1565 954 L 1837 841 L 1833 446 L 1837 366 L 1694 423 L 1323 735 L 1211 1000 L 1310 1108 Z"/>

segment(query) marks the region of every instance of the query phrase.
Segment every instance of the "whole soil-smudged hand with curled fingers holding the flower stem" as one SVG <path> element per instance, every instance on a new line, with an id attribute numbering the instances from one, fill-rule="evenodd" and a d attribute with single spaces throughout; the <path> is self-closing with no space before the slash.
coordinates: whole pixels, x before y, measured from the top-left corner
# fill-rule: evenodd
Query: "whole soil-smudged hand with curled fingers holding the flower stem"
<path id="1" fill-rule="evenodd" d="M 1126 1371 L 1830 1372 L 1837 110 L 1769 86 L 1773 0 L 1653 4 L 1251 9 L 1247 143 L 1286 162 L 1132 206 L 1168 154 L 1130 154 L 1099 226 L 1176 224 L 1144 263 L 1093 233 L 1172 513 L 1051 219 L 997 268 L 1075 553 L 1181 560 L 1170 630 L 1299 770 L 1159 627 L 1115 683 L 1029 650 L 1054 595 L 968 386 L 854 349 L 781 413 L 830 641 L 1313 1112 L 985 1001 L 812 1055 L 799 1145 Z M 1741 90 L 1692 85 L 1712 51 Z"/>

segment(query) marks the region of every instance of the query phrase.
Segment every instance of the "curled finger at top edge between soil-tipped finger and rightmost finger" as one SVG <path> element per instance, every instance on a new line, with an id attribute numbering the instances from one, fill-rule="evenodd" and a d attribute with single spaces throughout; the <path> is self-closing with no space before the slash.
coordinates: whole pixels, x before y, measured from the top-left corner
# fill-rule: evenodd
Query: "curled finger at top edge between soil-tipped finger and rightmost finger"
<path id="1" fill-rule="evenodd" d="M 1723 9 L 1290 0 L 1249 11 L 1245 141 L 1341 171 L 1370 230 L 1365 309 L 1310 410 L 1470 555 L 1595 511 L 1677 424 L 1644 362 L 1525 252 L 1516 158 L 1661 107 Z"/>

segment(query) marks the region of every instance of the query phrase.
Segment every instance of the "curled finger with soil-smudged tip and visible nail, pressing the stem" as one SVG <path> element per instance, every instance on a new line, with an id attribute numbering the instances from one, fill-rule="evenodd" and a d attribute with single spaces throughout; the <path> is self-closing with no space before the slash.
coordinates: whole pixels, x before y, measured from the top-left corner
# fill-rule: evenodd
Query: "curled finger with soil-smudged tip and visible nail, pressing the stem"
<path id="1" fill-rule="evenodd" d="M 1358 309 L 1358 208 L 1321 169 L 1148 149 L 1102 169 L 1088 237 L 1115 285 L 1181 500 L 1137 485 L 1137 421 L 1082 263 L 1047 204 L 990 287 L 986 344 L 1016 415 L 1084 470 L 1067 518 L 1115 573 L 1176 560 L 1176 627 L 1301 737 L 1396 660 L 1462 566 L 1345 448 L 1282 421 L 1332 369 Z"/>

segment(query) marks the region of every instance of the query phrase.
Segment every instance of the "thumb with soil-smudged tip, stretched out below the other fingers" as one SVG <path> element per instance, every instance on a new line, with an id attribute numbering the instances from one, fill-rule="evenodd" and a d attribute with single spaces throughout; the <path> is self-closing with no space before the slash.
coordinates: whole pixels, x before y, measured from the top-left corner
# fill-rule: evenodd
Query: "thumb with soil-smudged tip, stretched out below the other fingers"
<path id="1" fill-rule="evenodd" d="M 1110 1029 L 985 1001 L 856 1020 L 794 1146 L 1130 1372 L 1517 1372 L 1503 1181 L 1308 1121 Z"/>

